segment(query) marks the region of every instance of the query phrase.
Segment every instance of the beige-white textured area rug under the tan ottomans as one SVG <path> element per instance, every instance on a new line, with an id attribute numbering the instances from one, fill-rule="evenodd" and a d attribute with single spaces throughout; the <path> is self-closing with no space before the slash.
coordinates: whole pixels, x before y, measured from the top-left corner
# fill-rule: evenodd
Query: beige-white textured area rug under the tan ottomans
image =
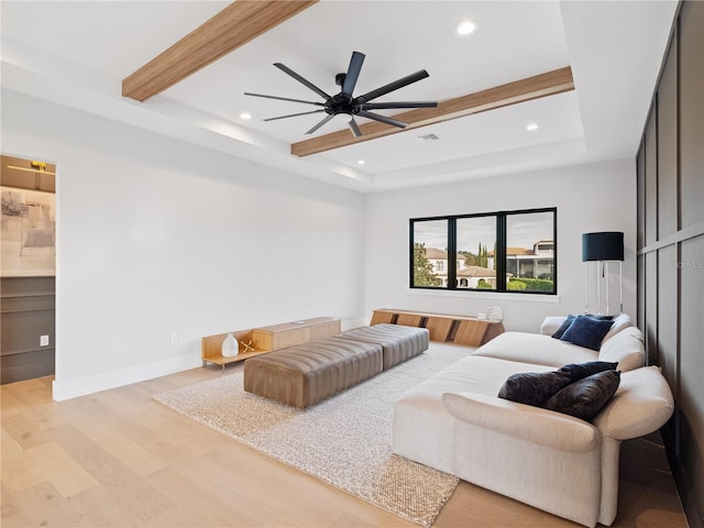
<path id="1" fill-rule="evenodd" d="M 245 393 L 242 371 L 155 396 L 157 402 L 400 517 L 429 527 L 453 475 L 392 453 L 394 403 L 469 353 L 431 343 L 414 358 L 305 410 Z"/>

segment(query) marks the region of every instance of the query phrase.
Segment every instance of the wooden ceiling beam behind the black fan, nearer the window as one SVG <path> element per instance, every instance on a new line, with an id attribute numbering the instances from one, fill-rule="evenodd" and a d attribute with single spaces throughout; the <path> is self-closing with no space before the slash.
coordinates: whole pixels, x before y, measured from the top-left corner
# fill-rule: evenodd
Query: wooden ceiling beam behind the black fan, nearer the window
<path id="1" fill-rule="evenodd" d="M 296 156 L 309 156 L 332 148 L 361 143 L 363 141 L 396 134 L 404 130 L 462 118 L 471 113 L 485 112 L 518 102 L 526 102 L 546 96 L 554 96 L 574 89 L 572 68 L 569 66 L 546 74 L 501 85 L 495 88 L 468 94 L 440 101 L 437 108 L 418 108 L 392 116 L 408 125 L 405 129 L 392 127 L 378 121 L 370 121 L 360 125 L 361 136 L 354 138 L 349 129 L 290 145 L 290 153 Z"/>

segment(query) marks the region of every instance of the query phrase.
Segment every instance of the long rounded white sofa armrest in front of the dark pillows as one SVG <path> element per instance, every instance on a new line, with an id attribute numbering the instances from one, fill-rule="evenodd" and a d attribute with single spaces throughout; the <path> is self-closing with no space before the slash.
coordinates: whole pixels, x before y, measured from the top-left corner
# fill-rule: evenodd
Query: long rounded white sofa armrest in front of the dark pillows
<path id="1" fill-rule="evenodd" d="M 446 393 L 442 403 L 461 421 L 560 451 L 585 453 L 600 442 L 591 424 L 552 410 L 476 393 Z"/>

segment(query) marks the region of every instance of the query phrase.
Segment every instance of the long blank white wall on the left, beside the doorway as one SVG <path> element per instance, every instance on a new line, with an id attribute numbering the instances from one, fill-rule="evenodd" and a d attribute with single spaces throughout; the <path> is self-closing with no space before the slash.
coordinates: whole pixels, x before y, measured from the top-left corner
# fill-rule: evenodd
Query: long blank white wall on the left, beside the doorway
<path id="1" fill-rule="evenodd" d="M 199 366 L 202 336 L 364 322 L 363 195 L 8 90 L 2 151 L 58 165 L 56 399 Z"/>

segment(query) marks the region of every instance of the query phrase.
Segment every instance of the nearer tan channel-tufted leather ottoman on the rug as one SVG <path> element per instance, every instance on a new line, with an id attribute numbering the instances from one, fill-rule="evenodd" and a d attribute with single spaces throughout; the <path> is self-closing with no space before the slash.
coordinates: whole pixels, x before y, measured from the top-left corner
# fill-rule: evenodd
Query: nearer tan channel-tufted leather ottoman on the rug
<path id="1" fill-rule="evenodd" d="M 246 360 L 244 389 L 302 409 L 374 377 L 382 365 L 380 344 L 319 339 Z"/>

